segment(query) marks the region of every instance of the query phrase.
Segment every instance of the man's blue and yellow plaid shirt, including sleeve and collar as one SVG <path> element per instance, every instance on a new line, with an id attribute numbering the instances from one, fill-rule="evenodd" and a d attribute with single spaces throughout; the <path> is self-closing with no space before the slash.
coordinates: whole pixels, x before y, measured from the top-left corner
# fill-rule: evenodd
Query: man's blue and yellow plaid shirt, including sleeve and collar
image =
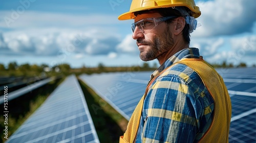
<path id="1" fill-rule="evenodd" d="M 182 58 L 199 57 L 198 49 L 184 49 L 165 61 L 151 79 Z M 214 100 L 199 75 L 186 65 L 176 64 L 148 89 L 136 142 L 197 142 L 213 115 Z"/>

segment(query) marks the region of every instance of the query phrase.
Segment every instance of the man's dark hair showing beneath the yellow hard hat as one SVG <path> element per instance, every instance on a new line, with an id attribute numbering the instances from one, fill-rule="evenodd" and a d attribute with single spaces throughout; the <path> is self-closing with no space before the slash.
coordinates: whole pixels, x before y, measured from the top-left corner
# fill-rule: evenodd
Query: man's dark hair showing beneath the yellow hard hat
<path id="1" fill-rule="evenodd" d="M 144 10 L 144 11 L 139 11 L 135 12 L 134 15 L 137 16 L 138 14 L 143 14 L 143 13 L 148 13 L 148 12 L 158 12 L 161 16 L 166 17 L 166 16 L 177 16 L 177 17 L 184 17 L 190 15 L 190 10 L 186 7 L 175 7 L 175 8 L 158 8 L 154 10 Z M 171 23 L 174 19 L 169 19 L 166 20 L 166 23 Z M 189 25 L 186 23 L 185 27 L 182 30 L 182 36 L 183 39 L 186 43 L 190 43 L 190 34 L 189 34 Z"/>

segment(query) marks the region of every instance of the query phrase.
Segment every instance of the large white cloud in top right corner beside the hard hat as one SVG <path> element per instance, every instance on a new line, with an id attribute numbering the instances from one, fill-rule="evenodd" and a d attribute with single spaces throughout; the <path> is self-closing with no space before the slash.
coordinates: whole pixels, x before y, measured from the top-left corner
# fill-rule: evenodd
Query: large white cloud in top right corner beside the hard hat
<path id="1" fill-rule="evenodd" d="M 197 18 L 201 23 L 193 36 L 232 35 L 252 32 L 256 21 L 254 0 L 215 0 L 198 2 L 202 15 Z"/>

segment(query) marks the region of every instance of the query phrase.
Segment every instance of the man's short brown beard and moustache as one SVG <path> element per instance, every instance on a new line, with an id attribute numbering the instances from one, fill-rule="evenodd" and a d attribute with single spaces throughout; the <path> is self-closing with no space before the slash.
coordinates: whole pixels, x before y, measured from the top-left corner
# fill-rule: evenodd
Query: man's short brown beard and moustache
<path id="1" fill-rule="evenodd" d="M 137 44 L 145 44 L 147 48 L 140 49 L 140 59 L 143 61 L 151 61 L 164 53 L 168 52 L 170 48 L 174 45 L 174 39 L 172 33 L 167 30 L 163 34 L 155 35 L 153 37 L 153 42 L 137 39 Z"/>

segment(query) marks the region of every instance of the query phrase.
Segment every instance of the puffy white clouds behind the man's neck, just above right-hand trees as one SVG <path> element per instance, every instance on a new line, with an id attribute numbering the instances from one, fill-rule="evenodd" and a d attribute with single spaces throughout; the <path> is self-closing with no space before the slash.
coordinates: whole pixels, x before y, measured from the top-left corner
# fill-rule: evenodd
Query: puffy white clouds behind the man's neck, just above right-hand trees
<path id="1" fill-rule="evenodd" d="M 209 63 L 241 62 L 256 64 L 256 36 L 237 36 L 223 38 L 200 38 L 193 40 L 190 47 L 198 47 L 200 54 Z"/>

